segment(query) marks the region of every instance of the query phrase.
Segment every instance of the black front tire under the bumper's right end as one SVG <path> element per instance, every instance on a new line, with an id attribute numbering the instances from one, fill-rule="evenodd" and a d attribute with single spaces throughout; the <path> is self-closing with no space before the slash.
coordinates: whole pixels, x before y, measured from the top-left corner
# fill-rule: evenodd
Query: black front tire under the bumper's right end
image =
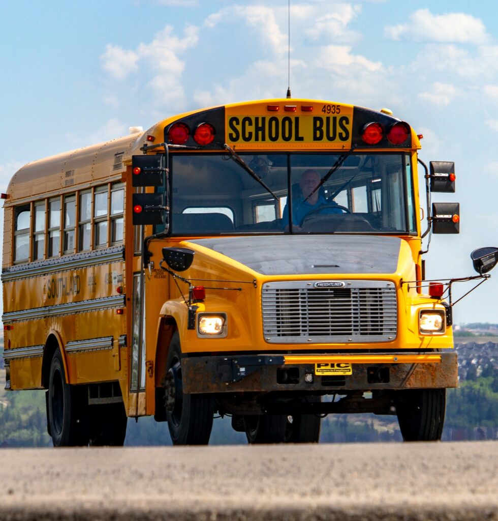
<path id="1" fill-rule="evenodd" d="M 395 392 L 395 407 L 404 441 L 441 439 L 446 389 L 407 389 Z"/>

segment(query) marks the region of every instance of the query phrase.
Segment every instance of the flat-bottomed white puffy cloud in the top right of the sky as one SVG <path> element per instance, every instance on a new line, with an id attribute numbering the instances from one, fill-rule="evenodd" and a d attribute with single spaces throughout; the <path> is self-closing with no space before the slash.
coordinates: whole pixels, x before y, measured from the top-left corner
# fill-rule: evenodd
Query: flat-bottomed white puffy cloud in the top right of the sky
<path id="1" fill-rule="evenodd" d="M 416 42 L 455 42 L 482 44 L 489 40 L 481 20 L 465 13 L 433 15 L 429 9 L 418 9 L 408 23 L 385 28 L 392 40 Z"/>

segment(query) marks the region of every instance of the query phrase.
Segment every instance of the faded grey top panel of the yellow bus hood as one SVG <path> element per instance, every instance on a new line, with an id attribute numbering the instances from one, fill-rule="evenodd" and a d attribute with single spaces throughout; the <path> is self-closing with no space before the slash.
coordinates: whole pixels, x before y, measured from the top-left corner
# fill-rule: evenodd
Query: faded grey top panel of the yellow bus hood
<path id="1" fill-rule="evenodd" d="M 221 253 L 262 275 L 361 275 L 396 272 L 404 241 L 378 235 L 264 235 L 185 243 Z"/>

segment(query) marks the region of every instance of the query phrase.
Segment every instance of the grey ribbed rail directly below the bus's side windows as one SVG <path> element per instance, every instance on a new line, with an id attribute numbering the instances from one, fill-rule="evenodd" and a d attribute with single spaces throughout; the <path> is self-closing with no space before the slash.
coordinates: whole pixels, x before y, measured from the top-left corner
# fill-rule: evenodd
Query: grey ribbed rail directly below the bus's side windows
<path id="1" fill-rule="evenodd" d="M 52 275 L 62 271 L 70 271 L 79 268 L 88 268 L 98 264 L 110 264 L 124 261 L 124 246 L 113 246 L 106 250 L 94 250 L 92 252 L 76 253 L 59 258 L 36 261 L 27 264 L 11 266 L 2 272 L 2 282 Z"/>

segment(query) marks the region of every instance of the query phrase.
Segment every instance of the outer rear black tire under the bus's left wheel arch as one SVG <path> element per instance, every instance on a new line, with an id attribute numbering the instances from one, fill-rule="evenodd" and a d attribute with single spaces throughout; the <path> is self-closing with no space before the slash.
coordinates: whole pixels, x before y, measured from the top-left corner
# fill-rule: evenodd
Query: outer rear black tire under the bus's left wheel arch
<path id="1" fill-rule="evenodd" d="M 88 445 L 88 395 L 86 386 L 66 382 L 59 349 L 50 362 L 47 416 L 55 447 Z"/>

